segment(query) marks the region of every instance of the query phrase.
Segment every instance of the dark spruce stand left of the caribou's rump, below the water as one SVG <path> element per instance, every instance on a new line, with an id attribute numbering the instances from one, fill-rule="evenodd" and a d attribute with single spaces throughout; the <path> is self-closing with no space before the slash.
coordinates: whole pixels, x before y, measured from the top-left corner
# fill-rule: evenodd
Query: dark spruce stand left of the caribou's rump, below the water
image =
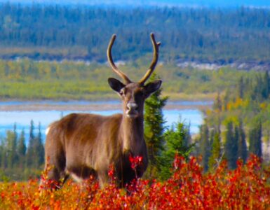
<path id="1" fill-rule="evenodd" d="M 18 134 L 16 124 L 0 139 L 0 181 L 21 180 L 38 177 L 44 163 L 44 146 L 39 123 L 38 133 L 34 132 L 31 120 L 29 139 L 26 144 L 25 131 Z"/>

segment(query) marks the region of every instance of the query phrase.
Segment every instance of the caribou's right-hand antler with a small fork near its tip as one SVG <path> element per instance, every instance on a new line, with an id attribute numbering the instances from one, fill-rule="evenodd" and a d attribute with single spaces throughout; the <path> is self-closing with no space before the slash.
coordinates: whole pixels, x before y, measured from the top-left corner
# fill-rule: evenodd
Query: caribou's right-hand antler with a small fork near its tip
<path id="1" fill-rule="evenodd" d="M 151 62 L 149 69 L 147 70 L 147 73 L 145 73 L 144 77 L 139 82 L 142 85 L 149 78 L 149 76 L 151 76 L 151 73 L 153 73 L 153 71 L 155 69 L 156 63 L 158 62 L 158 47 L 159 47 L 159 45 L 161 45 L 160 42 L 156 43 L 155 36 L 153 33 L 151 33 L 150 36 L 151 36 L 151 41 L 152 41 L 153 48 L 154 48 L 153 59 L 152 59 L 152 62 Z"/>

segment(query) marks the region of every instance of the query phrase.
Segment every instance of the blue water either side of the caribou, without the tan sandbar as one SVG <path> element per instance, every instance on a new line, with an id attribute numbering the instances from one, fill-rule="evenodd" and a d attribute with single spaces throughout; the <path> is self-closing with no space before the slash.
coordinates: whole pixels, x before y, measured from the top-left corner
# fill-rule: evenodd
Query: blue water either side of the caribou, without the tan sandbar
<path id="1" fill-rule="evenodd" d="M 27 104 L 102 104 L 108 102 L 0 102 L 0 105 L 27 105 Z M 119 103 L 117 101 L 110 103 Z M 182 105 L 196 105 L 196 102 L 175 102 L 182 103 Z M 191 104 L 189 104 L 191 103 Z M 201 105 L 205 102 L 197 102 L 197 105 Z M 208 102 L 206 102 L 208 103 Z M 209 102 L 210 103 L 210 102 Z M 204 104 L 207 105 L 207 104 Z M 45 131 L 46 127 L 53 123 L 55 120 L 59 120 L 62 116 L 66 116 L 69 113 L 96 113 L 104 116 L 109 116 L 114 113 L 121 113 L 121 110 L 109 110 L 109 111 L 0 111 L 0 137 L 6 136 L 7 130 L 13 130 L 14 123 L 16 123 L 17 132 L 20 134 L 22 129 L 25 131 L 26 139 L 29 138 L 29 127 L 30 121 L 34 121 L 35 132 L 37 133 L 37 127 L 41 123 L 41 133 L 43 140 L 46 138 Z M 198 109 L 175 109 L 175 110 L 164 110 L 164 118 L 166 120 L 166 126 L 170 127 L 173 123 L 178 120 L 184 121 L 190 124 L 191 134 L 198 133 L 198 126 L 203 123 L 203 113 Z"/>

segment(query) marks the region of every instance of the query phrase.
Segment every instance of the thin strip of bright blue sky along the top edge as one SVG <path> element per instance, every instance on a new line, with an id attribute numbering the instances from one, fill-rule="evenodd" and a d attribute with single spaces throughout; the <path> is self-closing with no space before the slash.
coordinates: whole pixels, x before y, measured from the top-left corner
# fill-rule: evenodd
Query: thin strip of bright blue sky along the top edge
<path id="1" fill-rule="evenodd" d="M 7 0 L 0 0 L 6 2 Z M 58 3 L 103 6 L 270 7 L 270 0 L 9 0 L 15 3 Z"/>

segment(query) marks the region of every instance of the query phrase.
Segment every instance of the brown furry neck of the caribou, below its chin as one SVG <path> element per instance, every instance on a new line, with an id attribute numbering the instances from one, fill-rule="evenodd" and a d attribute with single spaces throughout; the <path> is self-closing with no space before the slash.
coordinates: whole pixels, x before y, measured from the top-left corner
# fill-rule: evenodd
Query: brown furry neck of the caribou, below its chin
<path id="1" fill-rule="evenodd" d="M 130 119 L 123 116 L 121 122 L 121 137 L 123 138 L 123 153 L 132 153 L 140 155 L 141 147 L 144 141 L 144 119 L 140 116 Z"/>

